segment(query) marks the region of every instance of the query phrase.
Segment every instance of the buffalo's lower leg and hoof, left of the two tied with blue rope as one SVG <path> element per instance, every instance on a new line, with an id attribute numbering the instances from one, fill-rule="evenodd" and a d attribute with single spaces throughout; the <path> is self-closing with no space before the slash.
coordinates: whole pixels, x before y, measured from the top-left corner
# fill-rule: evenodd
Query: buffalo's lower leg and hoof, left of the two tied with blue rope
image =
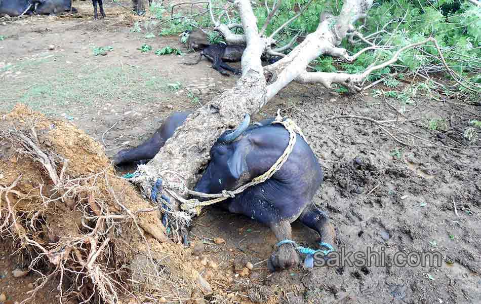
<path id="1" fill-rule="evenodd" d="M 287 220 L 271 223 L 270 229 L 274 232 L 278 241 L 292 239 L 291 223 Z M 297 265 L 299 265 L 299 254 L 290 243 L 280 245 L 267 261 L 267 267 L 271 271 L 296 267 Z"/>

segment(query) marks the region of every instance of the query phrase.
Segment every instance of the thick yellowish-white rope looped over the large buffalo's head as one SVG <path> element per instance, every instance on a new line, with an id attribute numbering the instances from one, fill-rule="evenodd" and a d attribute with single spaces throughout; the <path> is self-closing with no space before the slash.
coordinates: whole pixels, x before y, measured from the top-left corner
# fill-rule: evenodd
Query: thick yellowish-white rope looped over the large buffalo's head
<path id="1" fill-rule="evenodd" d="M 195 195 L 197 197 L 203 197 L 203 198 L 215 198 L 209 201 L 199 201 L 197 199 L 190 199 L 190 200 L 184 200 L 183 203 L 180 205 L 180 209 L 184 211 L 189 211 L 192 212 L 195 211 L 197 215 L 201 213 L 201 209 L 204 206 L 209 206 L 213 204 L 217 204 L 219 202 L 225 201 L 228 198 L 233 198 L 236 194 L 244 192 L 245 189 L 260 184 L 267 179 L 271 178 L 272 175 L 275 174 L 275 172 L 279 171 L 280 168 L 284 165 L 284 163 L 287 161 L 289 156 L 291 155 L 292 150 L 294 149 L 294 145 L 296 144 L 296 134 L 299 134 L 306 142 L 306 138 L 304 137 L 304 134 L 302 133 L 302 130 L 296 125 L 296 123 L 291 120 L 291 119 L 286 119 L 283 121 L 283 117 L 280 116 L 280 111 L 277 110 L 277 116 L 275 120 L 272 122 L 272 124 L 279 124 L 284 126 L 287 131 L 289 131 L 289 144 L 287 145 L 286 149 L 284 150 L 284 153 L 277 159 L 277 161 L 270 167 L 269 170 L 267 170 L 264 174 L 254 178 L 252 181 L 249 183 L 242 185 L 238 187 L 237 189 L 233 191 L 223 191 L 221 194 L 206 194 L 202 192 L 195 192 L 195 191 L 187 191 L 188 194 L 190 195 Z"/>

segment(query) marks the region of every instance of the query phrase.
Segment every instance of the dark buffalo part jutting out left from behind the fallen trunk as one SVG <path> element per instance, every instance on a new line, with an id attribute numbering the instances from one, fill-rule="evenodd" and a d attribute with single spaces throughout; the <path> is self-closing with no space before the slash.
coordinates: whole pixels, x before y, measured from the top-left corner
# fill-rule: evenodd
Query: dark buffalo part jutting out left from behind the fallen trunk
<path id="1" fill-rule="evenodd" d="M 152 159 L 158 153 L 158 150 L 164 146 L 167 139 L 184 123 L 189 114 L 188 112 L 173 113 L 173 115 L 167 118 L 162 126 L 155 131 L 152 137 L 144 143 L 135 148 L 119 151 L 113 158 L 113 164 L 119 165 Z"/>

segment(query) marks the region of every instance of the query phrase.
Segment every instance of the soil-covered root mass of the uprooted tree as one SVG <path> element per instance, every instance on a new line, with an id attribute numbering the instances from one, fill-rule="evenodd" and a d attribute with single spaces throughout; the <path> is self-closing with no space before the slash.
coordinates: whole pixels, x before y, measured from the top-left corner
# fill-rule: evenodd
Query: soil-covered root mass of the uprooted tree
<path id="1" fill-rule="evenodd" d="M 41 276 L 30 298 L 53 279 L 61 302 L 184 301 L 211 291 L 99 143 L 23 105 L 0 117 L 0 235 Z"/>

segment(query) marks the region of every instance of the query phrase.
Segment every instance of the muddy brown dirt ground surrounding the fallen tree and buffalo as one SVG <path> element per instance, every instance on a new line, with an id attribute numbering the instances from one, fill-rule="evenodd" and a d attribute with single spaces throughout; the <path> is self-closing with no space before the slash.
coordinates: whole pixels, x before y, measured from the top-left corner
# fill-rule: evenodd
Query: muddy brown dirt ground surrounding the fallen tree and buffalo
<path id="1" fill-rule="evenodd" d="M 0 25 L 0 35 L 6 37 L 0 41 L 0 111 L 22 102 L 70 121 L 104 143 L 111 156 L 148 138 L 172 111 L 194 110 L 237 79 L 220 75 L 205 60 L 180 64 L 193 61 L 195 54 L 141 53 L 144 43 L 153 50 L 185 48 L 176 36 L 147 39 L 145 31 L 132 32 L 131 20 L 113 4 L 105 4 L 107 18 L 98 21 L 91 19 L 90 3 L 76 7 L 82 18 L 27 17 Z M 94 56 L 94 48 L 106 46 L 112 51 Z M 218 264 L 214 275 L 207 269 L 203 275 L 211 285 L 235 293 L 239 302 L 266 302 L 274 295 L 280 303 L 481 303 L 481 160 L 480 149 L 472 148 L 481 143 L 469 144 L 463 137 L 471 120 L 481 121 L 481 107 L 436 99 L 426 92 L 413 95 L 402 117 L 397 99 L 373 97 L 371 90 L 343 95 L 291 84 L 254 119 L 281 109 L 302 128 L 325 172 L 314 203 L 330 214 L 337 250 L 385 248 L 388 260 L 399 251 L 438 251 L 440 267 L 344 265 L 271 274 L 265 260 L 276 240 L 269 229 L 213 207 L 191 227 L 194 253 Z M 349 115 L 398 119 L 397 126 L 409 134 L 391 130 L 392 135 L 412 146 L 400 145 L 366 120 L 323 122 Z M 218 245 L 215 238 L 225 243 Z M 295 222 L 293 238 L 313 247 L 317 236 Z M 21 301 L 38 277 L 13 278 L 19 261 L 10 255 L 9 239 L 2 242 L 0 294 L 5 293 L 6 303 Z M 254 264 L 251 272 L 244 270 L 248 261 Z M 233 280 L 218 282 L 216 276 L 222 274 Z M 58 301 L 51 292 L 55 288 L 46 286 L 35 303 Z"/>

